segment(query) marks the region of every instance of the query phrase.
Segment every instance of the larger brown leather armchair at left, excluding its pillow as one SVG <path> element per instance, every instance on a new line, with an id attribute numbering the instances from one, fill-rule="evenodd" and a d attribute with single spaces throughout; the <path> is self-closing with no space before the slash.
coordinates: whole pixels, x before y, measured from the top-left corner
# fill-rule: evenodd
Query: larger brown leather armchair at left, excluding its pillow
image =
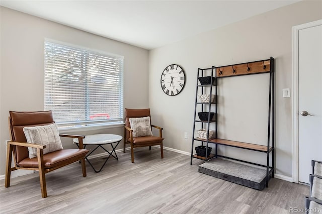
<path id="1" fill-rule="evenodd" d="M 5 187 L 10 186 L 11 172 L 17 169 L 38 170 L 41 186 L 41 196 L 47 197 L 45 173 L 76 161 L 82 162 L 83 176 L 86 177 L 85 155 L 89 152 L 83 149 L 85 136 L 63 135 L 60 137 L 78 138 L 79 149 L 62 149 L 43 154 L 45 145 L 26 143 L 23 132 L 24 127 L 44 126 L 54 123 L 52 112 L 9 112 L 9 128 L 11 140 L 7 144 L 6 181 Z M 37 149 L 37 157 L 29 158 L 28 147 Z M 15 166 L 12 167 L 12 155 L 14 154 Z"/>

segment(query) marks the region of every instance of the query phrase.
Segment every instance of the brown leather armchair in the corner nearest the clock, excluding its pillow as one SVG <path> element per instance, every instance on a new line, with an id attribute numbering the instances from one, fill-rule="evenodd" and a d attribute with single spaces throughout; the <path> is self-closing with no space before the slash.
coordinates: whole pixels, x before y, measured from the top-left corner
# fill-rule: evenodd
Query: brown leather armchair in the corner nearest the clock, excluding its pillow
<path id="1" fill-rule="evenodd" d="M 163 140 L 162 130 L 163 128 L 151 125 L 151 127 L 159 130 L 159 136 L 142 136 L 142 137 L 133 137 L 133 130 L 131 129 L 129 119 L 130 118 L 142 118 L 142 117 L 151 117 L 150 109 L 125 109 L 125 126 L 124 126 L 124 148 L 123 152 L 125 153 L 125 145 L 131 145 L 131 160 L 134 163 L 134 151 L 136 147 L 160 145 L 161 158 L 163 158 Z"/>

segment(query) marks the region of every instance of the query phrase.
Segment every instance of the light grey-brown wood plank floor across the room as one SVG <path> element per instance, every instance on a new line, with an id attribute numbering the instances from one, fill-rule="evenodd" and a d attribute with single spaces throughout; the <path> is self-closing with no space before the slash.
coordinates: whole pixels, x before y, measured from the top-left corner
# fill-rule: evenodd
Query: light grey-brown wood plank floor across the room
<path id="1" fill-rule="evenodd" d="M 197 159 L 158 148 L 117 153 L 100 173 L 87 164 L 71 164 L 46 174 L 48 197 L 42 198 L 38 173 L 0 181 L 1 213 L 289 213 L 303 208 L 309 187 L 271 179 L 262 191 L 198 172 Z M 102 158 L 92 159 L 100 167 Z"/>

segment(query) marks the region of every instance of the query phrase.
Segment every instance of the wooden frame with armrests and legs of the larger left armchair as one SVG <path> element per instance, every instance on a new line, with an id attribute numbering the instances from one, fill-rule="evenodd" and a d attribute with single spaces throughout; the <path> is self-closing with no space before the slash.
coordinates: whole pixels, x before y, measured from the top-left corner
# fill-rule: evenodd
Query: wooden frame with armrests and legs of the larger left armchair
<path id="1" fill-rule="evenodd" d="M 43 198 L 47 197 L 47 188 L 46 188 L 46 178 L 45 174 L 48 172 L 51 172 L 55 169 L 61 168 L 63 166 L 66 166 L 68 164 L 71 164 L 76 161 L 81 161 L 82 163 L 82 172 L 83 177 L 86 177 L 86 163 L 85 163 L 85 155 L 82 157 L 75 156 L 74 158 L 69 158 L 67 160 L 62 161 L 59 163 L 59 165 L 52 167 L 52 168 L 45 168 L 44 164 L 44 154 L 43 149 L 46 148 L 45 145 L 40 144 L 30 144 L 26 142 L 15 142 L 13 141 L 13 132 L 12 132 L 12 126 L 11 126 L 11 118 L 9 117 L 9 128 L 10 128 L 10 137 L 12 141 L 8 141 L 7 143 L 7 160 L 6 160 L 6 181 L 5 181 L 5 187 L 10 186 L 10 178 L 11 178 L 11 172 L 15 171 L 17 169 L 25 169 L 25 170 L 38 170 L 39 171 L 39 179 L 40 179 L 40 187 L 41 187 L 41 196 Z M 68 134 L 59 134 L 60 137 L 67 137 L 67 138 L 78 138 L 79 142 L 79 149 L 84 149 L 83 145 L 83 139 L 85 136 L 81 135 L 68 135 Z M 37 149 L 37 160 L 38 160 L 38 167 L 21 167 L 17 165 L 17 156 L 16 156 L 16 149 L 15 147 L 33 147 Z M 78 149 L 77 149 L 78 150 Z M 89 151 L 89 150 L 88 150 Z M 15 166 L 12 167 L 12 159 L 14 159 Z"/>

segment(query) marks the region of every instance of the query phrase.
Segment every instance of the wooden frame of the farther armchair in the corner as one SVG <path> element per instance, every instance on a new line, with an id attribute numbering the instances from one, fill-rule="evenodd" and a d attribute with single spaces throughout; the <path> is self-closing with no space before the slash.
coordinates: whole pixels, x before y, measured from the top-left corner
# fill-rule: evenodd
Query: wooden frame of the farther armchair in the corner
<path id="1" fill-rule="evenodd" d="M 125 111 L 127 111 L 127 110 L 129 110 L 129 109 L 125 109 Z M 162 130 L 163 130 L 163 128 L 155 126 L 155 125 L 152 125 L 152 124 L 151 124 L 151 127 L 155 128 L 155 129 L 158 129 L 158 132 L 159 132 L 158 137 L 162 138 Z M 127 137 L 127 133 L 126 133 L 127 131 L 129 132 L 129 137 Z M 146 146 L 148 146 L 149 150 L 151 150 L 151 146 L 159 145 L 160 146 L 160 152 L 161 152 L 161 158 L 164 158 L 164 155 L 163 155 L 163 141 L 162 140 L 159 141 L 159 142 L 148 142 L 147 141 L 146 143 L 144 143 L 142 145 L 141 144 L 136 145 L 134 143 L 133 130 L 130 127 L 125 125 L 124 126 L 124 145 L 123 145 L 123 152 L 124 153 L 125 153 L 125 149 L 126 149 L 126 144 L 130 144 L 130 146 L 131 146 L 131 161 L 132 161 L 132 163 L 134 163 L 134 148 L 137 148 L 137 147 L 146 147 Z"/>

